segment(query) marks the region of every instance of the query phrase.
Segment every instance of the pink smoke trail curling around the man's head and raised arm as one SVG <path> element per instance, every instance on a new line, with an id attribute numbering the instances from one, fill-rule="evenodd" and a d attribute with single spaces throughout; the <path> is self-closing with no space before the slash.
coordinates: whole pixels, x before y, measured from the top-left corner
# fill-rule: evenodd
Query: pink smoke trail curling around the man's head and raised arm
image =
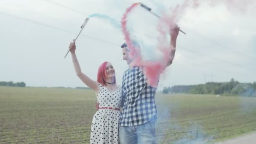
<path id="1" fill-rule="evenodd" d="M 134 3 L 127 8 L 122 17 L 122 32 L 125 36 L 125 41 L 130 49 L 129 56 L 131 59 L 134 59 L 130 66 L 138 66 L 143 69 L 144 75 L 147 77 L 147 83 L 153 87 L 157 87 L 159 76 L 164 72 L 165 67 L 170 59 L 174 59 L 170 53 L 173 48 L 170 43 L 168 43 L 167 36 L 171 29 L 176 27 L 176 24 L 179 20 L 186 14 L 188 8 L 198 8 L 201 4 L 208 3 L 210 6 L 216 6 L 223 4 L 227 6 L 229 10 L 235 11 L 246 11 L 246 9 L 253 3 L 256 3 L 256 0 L 185 0 L 184 3 L 176 5 L 174 8 L 171 8 L 169 14 L 163 13 L 162 17 L 158 21 L 157 31 L 160 32 L 158 37 L 157 49 L 163 54 L 161 60 L 158 61 L 143 61 L 141 58 L 141 53 L 139 48 L 136 48 L 133 45 L 131 40 L 130 33 L 127 29 L 127 16 L 133 8 L 135 8 L 139 3 Z"/>

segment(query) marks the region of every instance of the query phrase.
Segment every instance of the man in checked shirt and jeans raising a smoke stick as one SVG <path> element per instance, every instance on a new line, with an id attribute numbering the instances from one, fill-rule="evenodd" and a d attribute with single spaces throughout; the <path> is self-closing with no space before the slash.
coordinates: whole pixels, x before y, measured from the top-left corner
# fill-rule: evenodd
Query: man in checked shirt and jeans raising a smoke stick
<path id="1" fill-rule="evenodd" d="M 166 67 L 172 64 L 176 39 L 179 34 L 179 27 L 171 30 L 170 59 Z M 123 59 L 130 64 L 133 60 L 129 58 L 129 46 L 124 43 Z M 143 69 L 129 67 L 123 73 L 122 96 L 123 111 L 119 125 L 120 144 L 156 144 L 155 122 L 157 110 L 155 106 L 156 88 L 147 83 Z"/>

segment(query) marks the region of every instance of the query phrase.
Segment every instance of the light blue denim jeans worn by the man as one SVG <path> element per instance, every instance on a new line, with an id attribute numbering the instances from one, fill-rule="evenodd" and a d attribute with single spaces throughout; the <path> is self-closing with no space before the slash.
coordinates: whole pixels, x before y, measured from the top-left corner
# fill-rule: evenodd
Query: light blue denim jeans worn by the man
<path id="1" fill-rule="evenodd" d="M 155 116 L 147 123 L 137 126 L 120 126 L 120 144 L 156 144 Z"/>

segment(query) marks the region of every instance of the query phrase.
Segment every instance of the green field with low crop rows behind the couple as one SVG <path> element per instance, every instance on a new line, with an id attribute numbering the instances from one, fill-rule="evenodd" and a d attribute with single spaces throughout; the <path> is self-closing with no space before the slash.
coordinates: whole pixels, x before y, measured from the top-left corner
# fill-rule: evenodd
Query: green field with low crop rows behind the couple
<path id="1" fill-rule="evenodd" d="M 91 90 L 0 87 L 0 143 L 89 143 Z M 157 93 L 159 143 L 212 143 L 256 131 L 256 98 Z"/>

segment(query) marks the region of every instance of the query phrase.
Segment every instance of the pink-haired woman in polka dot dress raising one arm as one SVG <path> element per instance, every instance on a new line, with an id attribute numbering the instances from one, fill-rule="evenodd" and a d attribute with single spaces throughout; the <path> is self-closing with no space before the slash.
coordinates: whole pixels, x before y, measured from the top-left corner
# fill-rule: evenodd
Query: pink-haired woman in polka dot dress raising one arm
<path id="1" fill-rule="evenodd" d="M 114 67 L 105 61 L 99 67 L 97 81 L 91 80 L 81 72 L 75 42 L 70 43 L 69 49 L 77 76 L 96 93 L 99 103 L 91 125 L 91 144 L 118 144 L 122 88 L 116 84 Z"/>

